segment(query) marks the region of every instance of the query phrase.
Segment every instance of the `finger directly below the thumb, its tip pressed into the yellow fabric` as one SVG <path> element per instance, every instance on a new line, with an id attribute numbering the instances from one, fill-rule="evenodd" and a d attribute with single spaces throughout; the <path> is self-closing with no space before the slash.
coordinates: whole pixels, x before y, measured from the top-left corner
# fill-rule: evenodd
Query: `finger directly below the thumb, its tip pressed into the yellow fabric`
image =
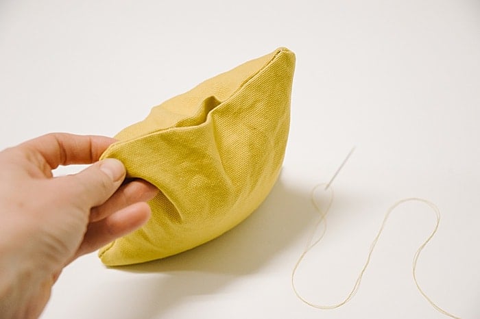
<path id="1" fill-rule="evenodd" d="M 123 209 L 133 203 L 149 201 L 153 199 L 156 194 L 158 194 L 158 188 L 151 183 L 143 180 L 131 181 L 121 186 L 103 205 L 91 209 L 90 221 L 96 222 L 104 219 L 119 209 Z"/>

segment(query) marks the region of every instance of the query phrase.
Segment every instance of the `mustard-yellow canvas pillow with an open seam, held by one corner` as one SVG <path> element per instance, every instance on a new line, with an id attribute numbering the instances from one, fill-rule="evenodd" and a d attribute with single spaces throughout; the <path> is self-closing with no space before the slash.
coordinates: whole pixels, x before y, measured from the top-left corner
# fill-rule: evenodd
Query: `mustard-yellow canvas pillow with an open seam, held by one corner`
<path id="1" fill-rule="evenodd" d="M 99 251 L 108 266 L 159 259 L 212 240 L 249 216 L 285 154 L 295 55 L 280 48 L 204 81 L 123 129 L 101 156 L 154 184 L 152 218 Z"/>

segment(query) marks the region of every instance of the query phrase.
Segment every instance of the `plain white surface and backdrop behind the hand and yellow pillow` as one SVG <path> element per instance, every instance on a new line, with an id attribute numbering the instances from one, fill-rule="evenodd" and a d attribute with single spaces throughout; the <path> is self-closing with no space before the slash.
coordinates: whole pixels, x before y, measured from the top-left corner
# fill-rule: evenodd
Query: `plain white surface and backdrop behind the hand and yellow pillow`
<path id="1" fill-rule="evenodd" d="M 309 192 L 354 145 L 300 292 L 341 301 L 386 209 L 420 196 L 442 221 L 418 281 L 440 307 L 480 318 L 479 1 L 0 0 L 0 148 L 50 131 L 113 136 L 280 46 L 297 54 L 291 130 L 261 208 L 169 259 L 115 269 L 78 259 L 42 318 L 445 318 L 411 277 L 435 225 L 419 203 L 394 212 L 350 303 L 323 311 L 293 294 L 318 217 Z"/>

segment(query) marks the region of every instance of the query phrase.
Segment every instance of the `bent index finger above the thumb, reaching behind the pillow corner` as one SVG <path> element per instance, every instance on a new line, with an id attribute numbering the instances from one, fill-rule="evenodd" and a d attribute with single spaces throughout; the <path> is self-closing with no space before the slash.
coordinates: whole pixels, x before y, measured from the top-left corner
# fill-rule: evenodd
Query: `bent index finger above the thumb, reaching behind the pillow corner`
<path id="1" fill-rule="evenodd" d="M 106 136 L 80 136 L 69 133 L 50 133 L 20 144 L 18 147 L 30 153 L 30 159 L 38 167 L 53 170 L 59 165 L 91 164 L 115 142 Z"/>

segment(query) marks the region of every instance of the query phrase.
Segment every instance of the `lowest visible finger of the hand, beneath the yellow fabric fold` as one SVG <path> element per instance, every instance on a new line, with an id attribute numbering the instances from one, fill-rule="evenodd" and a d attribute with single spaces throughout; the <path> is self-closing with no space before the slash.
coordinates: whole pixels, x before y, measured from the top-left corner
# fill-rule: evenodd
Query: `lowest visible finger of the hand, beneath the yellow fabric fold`
<path id="1" fill-rule="evenodd" d="M 147 203 L 134 203 L 98 222 L 92 222 L 74 258 L 96 251 L 127 233 L 139 229 L 151 215 Z"/>

